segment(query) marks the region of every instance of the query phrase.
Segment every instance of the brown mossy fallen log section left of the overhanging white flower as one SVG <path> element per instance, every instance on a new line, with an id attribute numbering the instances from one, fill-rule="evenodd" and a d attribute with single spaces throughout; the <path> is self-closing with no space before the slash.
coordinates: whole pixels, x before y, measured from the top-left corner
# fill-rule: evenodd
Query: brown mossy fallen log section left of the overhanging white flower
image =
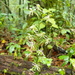
<path id="1" fill-rule="evenodd" d="M 0 71 L 6 69 L 10 73 L 20 73 L 26 70 L 28 75 L 28 69 L 32 68 L 32 63 L 24 61 L 22 59 L 15 59 L 13 56 L 0 55 Z"/>

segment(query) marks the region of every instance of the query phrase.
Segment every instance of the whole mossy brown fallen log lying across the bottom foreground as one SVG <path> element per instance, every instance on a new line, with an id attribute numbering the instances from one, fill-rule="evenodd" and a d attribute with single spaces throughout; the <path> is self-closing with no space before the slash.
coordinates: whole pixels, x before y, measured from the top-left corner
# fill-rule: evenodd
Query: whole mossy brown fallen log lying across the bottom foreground
<path id="1" fill-rule="evenodd" d="M 22 75 L 25 72 L 25 75 L 34 75 L 29 69 L 32 68 L 34 64 L 29 61 L 24 61 L 23 59 L 14 59 L 13 56 L 0 55 L 0 71 L 2 72 L 4 69 L 11 73 L 12 75 Z M 40 75 L 45 75 L 46 73 L 53 74 L 59 73 L 58 70 L 62 69 L 60 67 L 51 66 L 48 68 L 46 65 L 43 65 L 41 69 Z M 72 70 L 66 68 L 65 75 L 73 75 Z M 9 74 L 6 74 L 9 75 Z M 58 74 L 56 74 L 58 75 Z M 59 74 L 60 75 L 60 74 Z"/>

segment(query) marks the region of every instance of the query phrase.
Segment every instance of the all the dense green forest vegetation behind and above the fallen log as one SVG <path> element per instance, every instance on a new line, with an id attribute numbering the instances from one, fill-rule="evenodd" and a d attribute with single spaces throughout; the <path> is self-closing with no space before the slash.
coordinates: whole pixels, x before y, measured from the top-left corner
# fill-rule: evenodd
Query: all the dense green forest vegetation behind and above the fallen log
<path id="1" fill-rule="evenodd" d="M 74 69 L 75 0 L 0 0 L 3 53 L 34 62 L 35 75 L 41 63 L 52 66 L 53 56 Z"/>

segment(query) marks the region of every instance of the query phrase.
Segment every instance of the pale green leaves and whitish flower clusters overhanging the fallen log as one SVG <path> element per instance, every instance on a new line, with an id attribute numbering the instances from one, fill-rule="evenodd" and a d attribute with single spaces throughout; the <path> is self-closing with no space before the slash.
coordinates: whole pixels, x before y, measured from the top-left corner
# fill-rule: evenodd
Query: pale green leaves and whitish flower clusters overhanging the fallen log
<path id="1" fill-rule="evenodd" d="M 48 67 L 51 66 L 52 59 L 46 58 L 43 54 L 42 50 L 37 50 L 34 55 L 34 66 L 32 67 L 32 71 L 35 72 L 35 75 L 39 75 L 41 71 L 42 65 L 47 65 Z"/>

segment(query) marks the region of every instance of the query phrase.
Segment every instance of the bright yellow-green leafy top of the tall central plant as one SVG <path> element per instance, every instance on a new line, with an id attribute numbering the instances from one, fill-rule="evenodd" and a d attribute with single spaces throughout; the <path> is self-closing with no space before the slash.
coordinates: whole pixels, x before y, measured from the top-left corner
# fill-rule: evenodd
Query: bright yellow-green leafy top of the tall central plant
<path id="1" fill-rule="evenodd" d="M 58 25 L 56 25 L 53 18 L 53 12 L 55 9 L 42 9 L 40 5 L 37 5 L 36 7 L 31 8 L 30 11 L 30 15 L 36 15 L 35 18 L 31 18 L 33 20 L 32 26 L 35 27 L 36 31 L 42 31 L 42 29 L 45 29 L 44 32 L 49 33 L 53 30 L 53 28 L 58 28 Z"/>

